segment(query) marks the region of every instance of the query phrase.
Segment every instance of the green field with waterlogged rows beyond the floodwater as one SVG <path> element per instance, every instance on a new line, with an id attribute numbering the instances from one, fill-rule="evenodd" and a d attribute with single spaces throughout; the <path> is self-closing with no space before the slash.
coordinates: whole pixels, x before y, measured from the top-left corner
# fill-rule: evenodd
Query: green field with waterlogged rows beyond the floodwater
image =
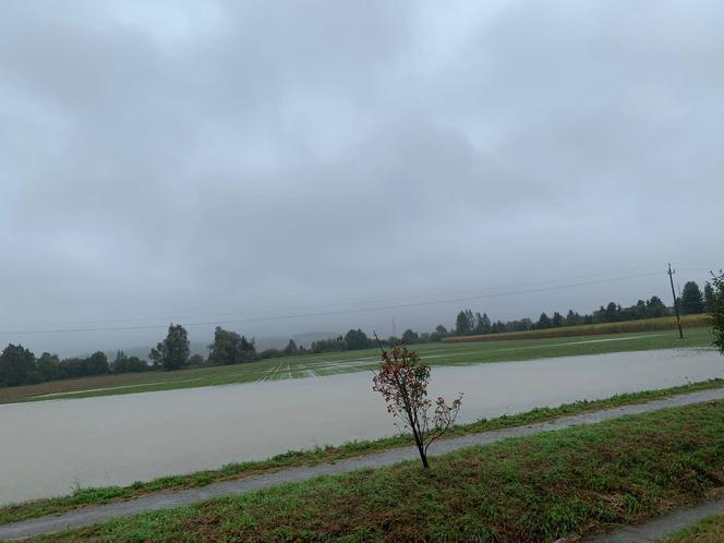
<path id="1" fill-rule="evenodd" d="M 705 348 L 711 346 L 711 341 L 712 334 L 709 328 L 691 328 L 686 330 L 686 337 L 683 340 L 678 339 L 676 333 L 663 330 L 605 336 L 596 334 L 571 338 L 421 343 L 412 346 L 412 348 L 420 352 L 424 362 L 432 365 L 464 365 L 650 349 Z M 244 364 L 176 372 L 101 375 L 0 388 L 0 403 L 314 377 L 371 370 L 377 366 L 378 361 L 379 351 L 377 349 L 365 349 L 285 357 Z"/>

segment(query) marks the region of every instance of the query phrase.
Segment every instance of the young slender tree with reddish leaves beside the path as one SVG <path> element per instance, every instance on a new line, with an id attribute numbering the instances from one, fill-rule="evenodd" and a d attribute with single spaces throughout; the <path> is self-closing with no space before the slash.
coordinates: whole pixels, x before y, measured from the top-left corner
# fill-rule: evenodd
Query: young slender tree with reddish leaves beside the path
<path id="1" fill-rule="evenodd" d="M 462 394 L 449 406 L 443 398 L 437 398 L 433 406 L 427 398 L 430 366 L 420 362 L 415 351 L 405 347 L 393 347 L 390 352 L 383 350 L 382 366 L 372 381 L 372 389 L 385 398 L 387 411 L 412 431 L 422 466 L 430 468 L 427 449 L 455 423 Z"/>

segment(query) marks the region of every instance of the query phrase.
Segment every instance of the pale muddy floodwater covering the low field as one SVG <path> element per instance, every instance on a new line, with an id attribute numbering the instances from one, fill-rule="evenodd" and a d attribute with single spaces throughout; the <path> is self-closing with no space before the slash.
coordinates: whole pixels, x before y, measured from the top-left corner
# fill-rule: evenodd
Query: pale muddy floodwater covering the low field
<path id="1" fill-rule="evenodd" d="M 461 422 L 724 377 L 711 350 L 433 367 Z M 0 504 L 396 433 L 370 372 L 0 406 Z"/>

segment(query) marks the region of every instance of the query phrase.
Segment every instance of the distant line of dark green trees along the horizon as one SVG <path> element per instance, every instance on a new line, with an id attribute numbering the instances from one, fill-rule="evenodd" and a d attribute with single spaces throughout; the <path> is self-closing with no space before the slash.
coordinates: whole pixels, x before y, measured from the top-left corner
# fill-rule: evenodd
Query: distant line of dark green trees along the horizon
<path id="1" fill-rule="evenodd" d="M 713 276 L 714 287 L 707 282 L 703 291 L 695 281 L 684 286 L 678 300 L 683 314 L 708 312 L 715 315 L 715 309 L 722 305 L 724 294 L 717 290 L 724 285 L 722 276 Z M 720 300 L 720 305 L 716 305 Z M 180 324 L 171 324 L 166 338 L 150 350 L 148 358 L 152 364 L 138 357 L 128 357 L 118 351 L 116 360 L 109 363 L 105 353 L 98 351 L 86 358 L 68 358 L 60 360 L 57 354 L 44 352 L 39 358 L 21 345 L 9 345 L 0 353 L 0 386 L 17 386 L 47 381 L 85 377 L 89 375 L 106 375 L 130 372 L 145 372 L 148 370 L 179 370 L 204 365 L 228 365 L 266 360 L 279 357 L 301 355 L 319 352 L 353 351 L 377 347 L 391 347 L 398 345 L 424 343 L 439 341 L 451 335 L 496 334 L 503 331 L 528 331 L 532 329 L 556 328 L 595 323 L 615 323 L 619 321 L 635 321 L 671 315 L 673 310 L 667 307 L 659 297 L 639 300 L 636 304 L 623 307 L 620 304 L 610 302 L 601 305 L 590 314 L 580 315 L 569 310 L 564 316 L 554 312 L 552 316 L 542 313 L 533 321 L 521 318 L 519 321 L 491 321 L 487 314 L 473 313 L 467 309 L 458 313 L 454 330 L 448 330 L 442 324 L 432 333 L 417 333 L 407 329 L 401 337 L 390 336 L 386 339 L 369 337 L 361 329 L 350 329 L 343 336 L 314 341 L 307 349 L 298 346 L 290 339 L 283 349 L 266 349 L 256 351 L 254 338 L 246 339 L 237 331 L 225 330 L 217 326 L 214 330 L 214 342 L 208 346 L 209 354 L 205 359 L 201 354 L 191 354 L 189 335 Z M 724 339 L 721 340 L 724 345 Z"/>

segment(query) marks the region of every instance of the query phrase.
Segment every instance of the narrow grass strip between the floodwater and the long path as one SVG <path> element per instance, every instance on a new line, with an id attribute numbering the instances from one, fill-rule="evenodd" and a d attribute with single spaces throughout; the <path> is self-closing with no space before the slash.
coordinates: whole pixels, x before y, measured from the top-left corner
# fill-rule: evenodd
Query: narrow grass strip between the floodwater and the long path
<path id="1" fill-rule="evenodd" d="M 491 420 L 480 420 L 470 424 L 457 425 L 451 429 L 449 436 L 459 436 L 503 427 L 520 426 L 535 422 L 550 421 L 559 417 L 594 411 L 618 406 L 639 403 L 648 400 L 664 398 L 675 394 L 692 393 L 724 386 L 723 379 L 712 379 L 661 390 L 647 390 L 641 393 L 623 394 L 595 401 L 577 401 L 556 408 L 538 408 L 532 411 L 515 415 L 504 415 Z M 80 488 L 72 495 L 55 498 L 25 502 L 17 505 L 0 507 L 0 524 L 14 522 L 26 518 L 57 514 L 70 509 L 100 505 L 110 502 L 129 499 L 142 495 L 153 494 L 170 488 L 188 488 L 204 486 L 214 481 L 240 479 L 264 472 L 278 471 L 298 466 L 314 466 L 323 462 L 334 462 L 354 456 L 378 452 L 384 449 L 412 445 L 410 435 L 395 437 L 350 442 L 337 447 L 319 447 L 314 450 L 293 450 L 263 461 L 230 463 L 219 470 L 201 471 L 184 475 L 170 475 L 149 482 L 137 482 L 130 486 L 108 486 L 99 488 Z"/>

